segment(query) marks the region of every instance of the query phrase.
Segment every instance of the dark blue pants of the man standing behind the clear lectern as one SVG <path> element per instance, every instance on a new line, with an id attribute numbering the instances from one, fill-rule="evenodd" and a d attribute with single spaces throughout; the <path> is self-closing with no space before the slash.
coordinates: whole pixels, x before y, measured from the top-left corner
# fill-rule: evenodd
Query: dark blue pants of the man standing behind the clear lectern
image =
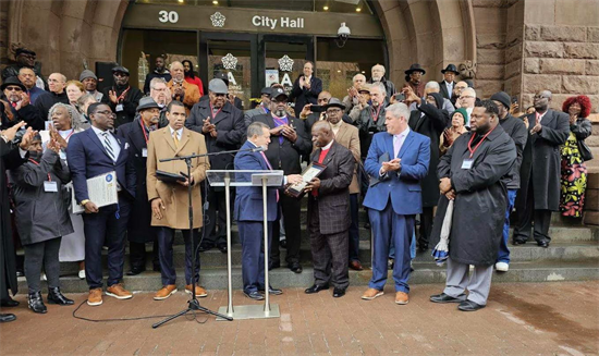
<path id="1" fill-rule="evenodd" d="M 272 228 L 268 222 L 268 244 L 272 238 Z M 247 294 L 265 286 L 265 224 L 262 221 L 237 221 L 242 243 L 243 291 Z"/>

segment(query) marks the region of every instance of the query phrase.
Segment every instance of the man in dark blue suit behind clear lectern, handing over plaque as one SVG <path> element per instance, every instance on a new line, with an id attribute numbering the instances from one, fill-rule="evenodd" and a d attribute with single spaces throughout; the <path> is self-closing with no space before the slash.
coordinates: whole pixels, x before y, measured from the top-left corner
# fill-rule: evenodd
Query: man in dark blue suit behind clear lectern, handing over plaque
<path id="1" fill-rule="evenodd" d="M 235 156 L 235 170 L 269 171 L 272 165 L 262 151 L 252 151 L 254 148 L 268 148 L 270 144 L 270 127 L 261 122 L 254 122 L 247 127 L 247 142 Z M 237 181 L 250 182 L 252 174 L 237 173 Z M 284 177 L 284 184 L 301 183 L 300 174 Z M 268 237 L 272 235 L 272 222 L 277 219 L 278 191 L 273 187 L 267 193 Z M 240 230 L 242 243 L 242 275 L 243 292 L 252 299 L 261 300 L 259 293 L 265 290 L 265 251 L 264 251 L 264 207 L 262 188 L 259 186 L 240 186 L 235 196 L 235 220 Z M 270 246 L 270 243 L 269 243 Z M 269 286 L 270 294 L 282 294 L 281 290 Z"/>

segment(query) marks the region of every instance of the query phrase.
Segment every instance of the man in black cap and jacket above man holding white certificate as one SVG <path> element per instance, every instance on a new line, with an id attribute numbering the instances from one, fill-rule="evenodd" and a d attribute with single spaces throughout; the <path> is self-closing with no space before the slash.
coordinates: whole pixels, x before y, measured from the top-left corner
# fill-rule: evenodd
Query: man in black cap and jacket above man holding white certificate
<path id="1" fill-rule="evenodd" d="M 139 99 L 144 96 L 142 90 L 129 84 L 129 70 L 122 65 L 112 69 L 114 85 L 103 89 L 101 102 L 107 103 L 114 113 L 114 127 L 132 122 L 137 112 Z"/>

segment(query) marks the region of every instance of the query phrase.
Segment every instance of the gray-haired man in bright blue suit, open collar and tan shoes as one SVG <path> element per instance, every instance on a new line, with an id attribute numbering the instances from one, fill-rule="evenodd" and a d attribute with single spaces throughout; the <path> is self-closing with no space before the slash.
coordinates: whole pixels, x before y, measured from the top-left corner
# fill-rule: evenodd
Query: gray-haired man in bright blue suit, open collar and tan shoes
<path id="1" fill-rule="evenodd" d="M 430 138 L 409 130 L 409 109 L 404 103 L 387 108 L 387 132 L 375 134 L 364 163 L 371 183 L 364 198 L 372 226 L 372 279 L 362 296 L 370 300 L 383 294 L 391 240 L 395 247 L 393 280 L 395 303 L 407 304 L 409 243 L 414 216 L 423 211 L 421 187 L 430 161 Z"/>

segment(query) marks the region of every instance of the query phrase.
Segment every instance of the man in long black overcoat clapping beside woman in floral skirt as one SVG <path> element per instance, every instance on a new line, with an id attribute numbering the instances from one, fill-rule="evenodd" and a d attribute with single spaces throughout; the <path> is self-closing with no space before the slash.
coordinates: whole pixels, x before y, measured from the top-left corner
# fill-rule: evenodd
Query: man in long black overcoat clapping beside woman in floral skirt
<path id="1" fill-rule="evenodd" d="M 519 171 L 514 245 L 528 241 L 534 223 L 537 245 L 549 247 L 551 211 L 560 208 L 560 146 L 570 135 L 570 118 L 566 113 L 549 109 L 551 97 L 549 90 L 535 95 L 533 102 L 536 112 L 525 119 L 530 131 Z"/>

